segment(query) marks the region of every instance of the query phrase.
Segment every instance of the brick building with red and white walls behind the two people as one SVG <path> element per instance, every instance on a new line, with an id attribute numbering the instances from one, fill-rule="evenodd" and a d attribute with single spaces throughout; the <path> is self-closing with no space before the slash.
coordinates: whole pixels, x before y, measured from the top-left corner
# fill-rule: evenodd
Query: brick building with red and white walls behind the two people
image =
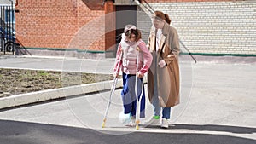
<path id="1" fill-rule="evenodd" d="M 16 0 L 16 36 L 37 55 L 64 52 L 113 55 L 125 24 L 147 41 L 151 26 L 145 1 Z M 180 39 L 197 55 L 256 55 L 253 0 L 147 0 L 169 14 Z M 183 52 L 186 52 L 183 50 Z"/>

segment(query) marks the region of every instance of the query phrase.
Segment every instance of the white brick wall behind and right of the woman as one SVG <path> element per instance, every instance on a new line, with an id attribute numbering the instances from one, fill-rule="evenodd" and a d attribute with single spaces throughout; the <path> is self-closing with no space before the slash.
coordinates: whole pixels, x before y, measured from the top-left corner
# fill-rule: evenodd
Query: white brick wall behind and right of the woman
<path id="1" fill-rule="evenodd" d="M 256 1 L 150 5 L 169 14 L 193 53 L 256 55 Z"/>

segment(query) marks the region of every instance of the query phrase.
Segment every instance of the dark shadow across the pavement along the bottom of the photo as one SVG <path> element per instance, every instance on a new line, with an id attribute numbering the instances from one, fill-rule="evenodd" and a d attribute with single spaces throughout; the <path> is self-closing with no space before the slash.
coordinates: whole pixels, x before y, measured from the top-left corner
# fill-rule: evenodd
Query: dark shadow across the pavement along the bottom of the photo
<path id="1" fill-rule="evenodd" d="M 208 135 L 191 133 L 145 133 L 108 135 L 96 130 L 0 120 L 0 143 L 3 144 L 124 144 L 124 143 L 185 143 L 185 144 L 254 144 L 256 141 L 229 135 Z M 255 129 L 219 126 L 179 124 L 174 129 L 217 130 L 237 133 L 253 133 Z"/>

